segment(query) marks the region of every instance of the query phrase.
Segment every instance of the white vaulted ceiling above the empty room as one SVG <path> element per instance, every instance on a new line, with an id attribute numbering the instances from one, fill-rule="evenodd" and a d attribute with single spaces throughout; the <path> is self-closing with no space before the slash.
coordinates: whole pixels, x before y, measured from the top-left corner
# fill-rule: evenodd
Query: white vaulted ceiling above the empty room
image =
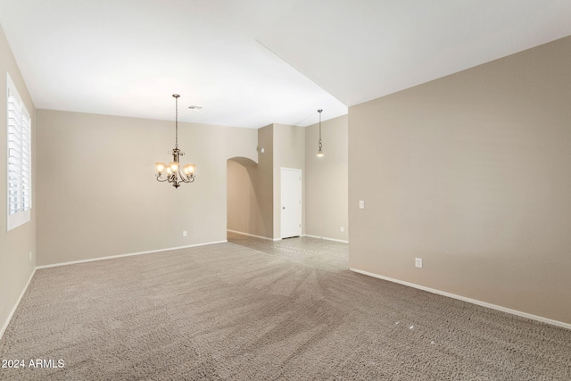
<path id="1" fill-rule="evenodd" d="M 40 109 L 260 128 L 571 35 L 569 0 L 0 0 Z M 200 112 L 189 105 L 203 106 Z"/>

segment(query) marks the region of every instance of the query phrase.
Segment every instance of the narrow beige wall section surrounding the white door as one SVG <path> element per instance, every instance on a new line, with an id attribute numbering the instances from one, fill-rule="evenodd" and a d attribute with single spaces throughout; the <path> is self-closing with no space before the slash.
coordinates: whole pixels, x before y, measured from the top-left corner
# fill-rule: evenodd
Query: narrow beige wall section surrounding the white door
<path id="1" fill-rule="evenodd" d="M 281 238 L 281 169 L 302 170 L 302 234 L 305 234 L 305 129 L 273 125 L 274 137 L 274 238 Z"/>

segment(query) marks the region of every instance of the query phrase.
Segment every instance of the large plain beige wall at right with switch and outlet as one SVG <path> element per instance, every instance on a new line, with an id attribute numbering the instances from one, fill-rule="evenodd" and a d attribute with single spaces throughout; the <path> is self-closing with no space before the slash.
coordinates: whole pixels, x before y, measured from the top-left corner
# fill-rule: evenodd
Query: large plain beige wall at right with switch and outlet
<path id="1" fill-rule="evenodd" d="M 351 107 L 350 267 L 571 323 L 570 65 L 567 37 Z"/>

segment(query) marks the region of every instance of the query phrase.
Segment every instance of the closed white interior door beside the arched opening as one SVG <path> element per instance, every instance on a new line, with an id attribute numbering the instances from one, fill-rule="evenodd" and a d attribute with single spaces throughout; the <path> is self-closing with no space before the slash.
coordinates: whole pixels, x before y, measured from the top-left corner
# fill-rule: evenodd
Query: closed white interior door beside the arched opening
<path id="1" fill-rule="evenodd" d="M 282 238 L 302 235 L 302 170 L 282 168 Z"/>

